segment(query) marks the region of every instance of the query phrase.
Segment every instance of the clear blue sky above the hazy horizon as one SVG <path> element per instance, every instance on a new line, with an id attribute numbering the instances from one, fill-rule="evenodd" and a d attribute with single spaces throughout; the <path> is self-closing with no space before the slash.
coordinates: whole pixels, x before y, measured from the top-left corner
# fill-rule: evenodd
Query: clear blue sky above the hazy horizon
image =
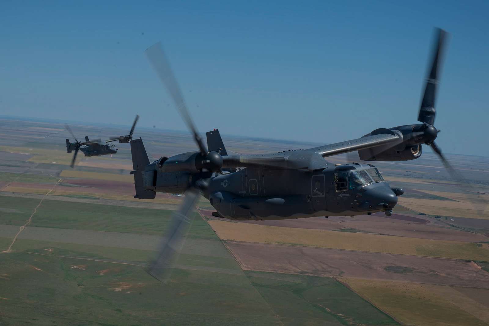
<path id="1" fill-rule="evenodd" d="M 489 156 L 489 1 L 438 2 L 2 0 L 0 115 L 185 130 L 161 41 L 201 133 L 355 139 L 417 123 L 437 26 L 437 143 Z"/>

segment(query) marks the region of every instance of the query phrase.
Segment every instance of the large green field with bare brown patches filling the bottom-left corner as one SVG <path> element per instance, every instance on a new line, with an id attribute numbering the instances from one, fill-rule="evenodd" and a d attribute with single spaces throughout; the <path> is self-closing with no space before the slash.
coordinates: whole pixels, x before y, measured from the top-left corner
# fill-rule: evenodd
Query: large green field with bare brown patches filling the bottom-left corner
<path id="1" fill-rule="evenodd" d="M 13 253 L 1 257 L 1 325 L 274 325 L 245 275 Z M 279 324 L 278 324 L 279 325 Z"/>

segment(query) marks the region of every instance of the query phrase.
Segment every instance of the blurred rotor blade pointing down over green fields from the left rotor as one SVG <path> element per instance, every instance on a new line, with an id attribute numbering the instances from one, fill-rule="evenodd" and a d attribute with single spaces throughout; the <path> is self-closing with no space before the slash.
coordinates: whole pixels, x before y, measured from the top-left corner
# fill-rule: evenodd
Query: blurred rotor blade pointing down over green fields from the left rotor
<path id="1" fill-rule="evenodd" d="M 199 191 L 190 188 L 185 193 L 185 199 L 172 214 L 172 220 L 168 227 L 166 236 L 159 245 L 156 260 L 148 266 L 148 273 L 157 280 L 166 283 L 171 275 L 172 266 L 178 258 L 185 242 L 188 228 L 192 223 L 191 213 L 199 199 Z"/>

